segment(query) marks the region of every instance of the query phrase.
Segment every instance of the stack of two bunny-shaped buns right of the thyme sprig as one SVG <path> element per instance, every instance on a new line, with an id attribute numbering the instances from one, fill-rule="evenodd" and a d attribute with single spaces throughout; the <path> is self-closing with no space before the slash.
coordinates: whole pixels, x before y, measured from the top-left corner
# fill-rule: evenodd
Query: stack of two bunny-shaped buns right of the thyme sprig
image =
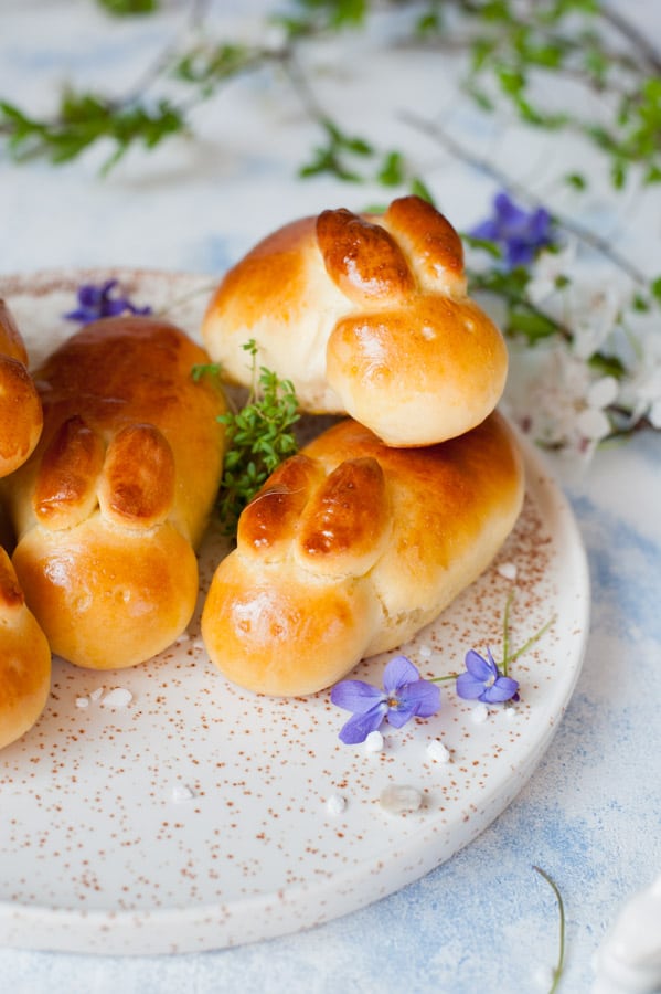
<path id="1" fill-rule="evenodd" d="M 226 677 L 307 695 L 413 636 L 511 531 L 524 474 L 494 411 L 505 345 L 467 296 L 459 236 L 416 197 L 266 237 L 220 284 L 203 336 L 230 380 L 247 382 L 253 339 L 303 410 L 351 415 L 244 510 L 202 614 Z"/>

